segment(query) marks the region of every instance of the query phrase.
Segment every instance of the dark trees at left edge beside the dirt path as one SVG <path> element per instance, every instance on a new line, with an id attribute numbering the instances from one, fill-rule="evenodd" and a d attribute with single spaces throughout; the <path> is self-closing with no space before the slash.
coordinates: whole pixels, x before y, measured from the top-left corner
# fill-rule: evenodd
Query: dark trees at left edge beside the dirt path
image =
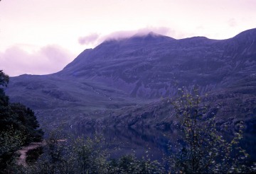
<path id="1" fill-rule="evenodd" d="M 0 70 L 0 168 L 9 173 L 16 163 L 16 151 L 21 146 L 43 139 L 34 112 L 21 103 L 10 103 L 4 88 L 9 76 Z"/>

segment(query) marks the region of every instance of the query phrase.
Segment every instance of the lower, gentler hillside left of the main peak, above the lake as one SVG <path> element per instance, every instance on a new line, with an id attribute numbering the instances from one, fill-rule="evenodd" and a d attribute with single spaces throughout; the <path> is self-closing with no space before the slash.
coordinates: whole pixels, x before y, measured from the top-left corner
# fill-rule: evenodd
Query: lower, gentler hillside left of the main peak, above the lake
<path id="1" fill-rule="evenodd" d="M 56 76 L 23 75 L 11 78 L 6 89 L 12 102 L 26 103 L 35 110 L 44 126 L 72 123 L 99 115 L 98 110 L 112 110 L 136 105 L 123 91 L 94 81 L 76 81 Z M 142 102 L 143 103 L 143 102 Z M 100 115 L 102 117 L 104 115 Z"/>

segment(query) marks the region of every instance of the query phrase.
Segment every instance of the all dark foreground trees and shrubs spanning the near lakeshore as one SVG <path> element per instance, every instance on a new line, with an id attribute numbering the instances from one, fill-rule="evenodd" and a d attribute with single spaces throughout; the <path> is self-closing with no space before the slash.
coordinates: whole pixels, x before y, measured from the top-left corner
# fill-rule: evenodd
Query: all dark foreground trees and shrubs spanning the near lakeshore
<path id="1" fill-rule="evenodd" d="M 112 159 L 102 148 L 103 137 L 73 139 L 52 132 L 41 148 L 28 151 L 28 166 L 19 166 L 16 151 L 41 141 L 43 131 L 32 110 L 9 103 L 4 93 L 8 82 L 0 71 L 1 173 L 255 173 L 255 164 L 247 162 L 250 157 L 240 148 L 242 122 L 235 137 L 226 141 L 215 129 L 215 114 L 206 115 L 208 105 L 196 90 L 191 94 L 186 89 L 171 101 L 183 133 L 161 163 L 134 154 Z"/>

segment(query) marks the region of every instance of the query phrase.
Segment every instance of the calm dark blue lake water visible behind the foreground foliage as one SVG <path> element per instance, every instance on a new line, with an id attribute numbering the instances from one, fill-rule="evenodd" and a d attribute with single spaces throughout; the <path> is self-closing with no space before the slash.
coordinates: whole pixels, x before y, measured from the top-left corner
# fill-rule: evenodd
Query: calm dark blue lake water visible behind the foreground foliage
<path id="1" fill-rule="evenodd" d="M 156 129 L 156 128 L 131 128 L 131 127 L 86 127 L 70 128 L 69 134 L 75 137 L 95 137 L 102 136 L 107 145 L 105 149 L 110 151 L 112 158 L 125 154 L 134 153 L 137 158 L 146 157 L 152 160 L 161 161 L 165 155 L 171 153 L 169 144 L 173 147 L 178 145 L 177 141 L 181 135 L 181 130 L 173 129 Z M 223 137 L 230 141 L 233 138 L 235 129 L 228 128 L 220 131 Z M 245 132 L 244 139 L 241 141 L 243 149 L 250 154 L 250 161 L 256 161 L 256 137 L 255 133 Z"/>

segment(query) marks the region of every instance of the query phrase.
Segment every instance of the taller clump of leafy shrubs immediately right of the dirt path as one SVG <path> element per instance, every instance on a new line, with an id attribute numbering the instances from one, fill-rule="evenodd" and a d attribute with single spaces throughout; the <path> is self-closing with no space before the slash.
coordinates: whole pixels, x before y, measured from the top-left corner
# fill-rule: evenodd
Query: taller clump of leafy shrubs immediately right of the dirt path
<path id="1" fill-rule="evenodd" d="M 102 139 L 69 137 L 59 130 L 52 132 L 36 163 L 22 173 L 103 173 L 107 168 L 107 153 L 100 148 Z"/>

